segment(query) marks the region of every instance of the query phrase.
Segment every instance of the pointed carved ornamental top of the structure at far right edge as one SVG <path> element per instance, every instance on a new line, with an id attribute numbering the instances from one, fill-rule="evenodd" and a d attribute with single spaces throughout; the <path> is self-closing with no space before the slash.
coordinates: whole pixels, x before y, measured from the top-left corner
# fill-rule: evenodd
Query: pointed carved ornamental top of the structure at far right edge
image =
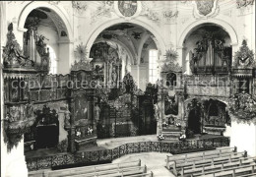
<path id="1" fill-rule="evenodd" d="M 242 41 L 242 46 L 235 52 L 233 58 L 236 68 L 252 68 L 255 66 L 253 51 L 247 46 L 246 40 Z"/>

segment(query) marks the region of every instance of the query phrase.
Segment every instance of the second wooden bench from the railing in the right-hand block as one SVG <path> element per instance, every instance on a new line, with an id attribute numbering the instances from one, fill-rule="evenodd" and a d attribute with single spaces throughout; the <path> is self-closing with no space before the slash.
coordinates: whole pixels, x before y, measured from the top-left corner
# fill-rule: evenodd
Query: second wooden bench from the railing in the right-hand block
<path id="1" fill-rule="evenodd" d="M 222 153 L 219 155 L 212 155 L 212 156 L 203 156 L 203 157 L 196 157 L 196 158 L 189 158 L 187 160 L 175 160 L 173 163 L 169 166 L 169 169 L 173 170 L 173 174 L 177 175 L 178 171 L 180 171 L 182 168 L 189 169 L 189 168 L 195 168 L 196 166 L 203 166 L 203 165 L 213 165 L 222 163 L 222 161 L 233 161 L 235 159 L 239 158 L 245 158 L 247 157 L 246 152 L 231 152 L 231 153 Z"/>

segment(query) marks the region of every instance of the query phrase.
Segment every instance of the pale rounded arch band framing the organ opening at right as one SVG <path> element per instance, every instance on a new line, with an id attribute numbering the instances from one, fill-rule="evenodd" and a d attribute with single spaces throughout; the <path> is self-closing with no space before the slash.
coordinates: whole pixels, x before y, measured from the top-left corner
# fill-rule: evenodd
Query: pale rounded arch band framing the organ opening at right
<path id="1" fill-rule="evenodd" d="M 222 20 L 217 20 L 217 19 L 204 19 L 204 20 L 199 20 L 195 21 L 194 23 L 188 25 L 185 27 L 185 29 L 182 31 L 179 40 L 178 40 L 178 47 L 183 46 L 183 42 L 186 39 L 186 37 L 192 32 L 194 29 L 201 27 L 201 25 L 204 24 L 214 24 L 216 26 L 222 27 L 230 36 L 231 38 L 231 45 L 237 45 L 238 44 L 238 38 L 235 30 L 227 23 L 225 23 Z"/>

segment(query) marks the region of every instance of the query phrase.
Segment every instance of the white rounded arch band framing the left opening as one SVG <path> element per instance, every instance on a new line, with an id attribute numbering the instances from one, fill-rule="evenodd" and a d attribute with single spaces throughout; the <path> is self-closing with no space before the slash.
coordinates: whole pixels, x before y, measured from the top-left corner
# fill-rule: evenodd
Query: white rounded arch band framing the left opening
<path id="1" fill-rule="evenodd" d="M 65 9 L 57 5 L 49 4 L 48 2 L 32 1 L 27 6 L 25 6 L 25 8 L 23 9 L 22 13 L 19 16 L 18 29 L 24 30 L 24 25 L 29 14 L 32 12 L 33 9 L 40 7 L 51 9 L 59 16 L 59 18 L 63 21 L 67 29 L 69 40 L 73 41 L 73 31 L 68 21 L 68 14 L 66 13 Z"/>

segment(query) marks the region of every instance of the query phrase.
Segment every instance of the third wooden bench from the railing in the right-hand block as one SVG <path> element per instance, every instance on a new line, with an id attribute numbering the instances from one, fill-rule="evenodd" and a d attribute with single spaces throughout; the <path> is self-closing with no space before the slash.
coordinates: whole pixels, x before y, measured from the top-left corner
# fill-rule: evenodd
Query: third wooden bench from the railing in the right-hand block
<path id="1" fill-rule="evenodd" d="M 238 161 L 233 161 L 233 162 L 223 162 L 222 164 L 214 164 L 214 165 L 210 165 L 210 166 L 201 166 L 201 167 L 196 167 L 196 168 L 192 168 L 192 169 L 185 169 L 182 168 L 181 170 L 181 176 L 188 176 L 189 174 L 193 174 L 193 176 L 197 176 L 197 175 L 202 175 L 205 174 L 206 172 L 212 172 L 212 171 L 216 171 L 216 170 L 223 170 L 226 168 L 230 168 L 230 167 L 238 167 L 238 166 L 246 166 L 246 165 L 251 165 L 251 164 L 255 164 L 255 158 L 254 157 L 250 157 L 247 158 L 245 160 L 238 160 Z"/>

